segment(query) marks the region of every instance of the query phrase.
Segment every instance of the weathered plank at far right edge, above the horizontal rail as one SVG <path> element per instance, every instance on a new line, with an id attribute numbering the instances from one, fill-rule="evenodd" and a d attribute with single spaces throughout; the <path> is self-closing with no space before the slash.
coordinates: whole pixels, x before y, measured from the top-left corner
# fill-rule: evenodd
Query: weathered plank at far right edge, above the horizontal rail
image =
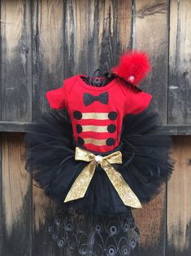
<path id="1" fill-rule="evenodd" d="M 191 124 L 191 2 L 171 1 L 168 123 Z"/>

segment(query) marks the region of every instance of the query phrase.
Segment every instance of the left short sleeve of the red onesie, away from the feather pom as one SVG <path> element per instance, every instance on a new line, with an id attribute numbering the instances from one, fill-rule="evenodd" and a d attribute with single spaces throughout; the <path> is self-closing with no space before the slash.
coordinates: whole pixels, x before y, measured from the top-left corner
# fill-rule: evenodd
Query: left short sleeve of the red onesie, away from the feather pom
<path id="1" fill-rule="evenodd" d="M 66 90 L 65 90 L 64 82 L 63 82 L 63 87 L 47 91 L 46 99 L 50 104 L 50 108 L 54 108 L 54 109 L 66 108 Z"/>

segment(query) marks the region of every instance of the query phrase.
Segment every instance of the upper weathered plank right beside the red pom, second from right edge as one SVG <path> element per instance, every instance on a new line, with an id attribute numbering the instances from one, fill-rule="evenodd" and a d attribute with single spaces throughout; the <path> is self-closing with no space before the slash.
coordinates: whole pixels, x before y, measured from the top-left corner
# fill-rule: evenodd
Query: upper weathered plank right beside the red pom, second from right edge
<path id="1" fill-rule="evenodd" d="M 156 107 L 167 124 L 168 1 L 134 1 L 132 46 L 146 51 L 152 70 L 141 88 L 154 95 Z"/>

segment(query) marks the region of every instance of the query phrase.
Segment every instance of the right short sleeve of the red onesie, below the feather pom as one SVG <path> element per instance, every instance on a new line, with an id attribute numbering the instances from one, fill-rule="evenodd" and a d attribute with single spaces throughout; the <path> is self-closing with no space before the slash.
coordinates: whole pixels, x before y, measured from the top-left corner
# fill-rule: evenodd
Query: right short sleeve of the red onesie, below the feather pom
<path id="1" fill-rule="evenodd" d="M 152 95 L 131 86 L 128 86 L 127 89 L 124 109 L 125 114 L 141 113 L 145 108 L 149 107 Z"/>

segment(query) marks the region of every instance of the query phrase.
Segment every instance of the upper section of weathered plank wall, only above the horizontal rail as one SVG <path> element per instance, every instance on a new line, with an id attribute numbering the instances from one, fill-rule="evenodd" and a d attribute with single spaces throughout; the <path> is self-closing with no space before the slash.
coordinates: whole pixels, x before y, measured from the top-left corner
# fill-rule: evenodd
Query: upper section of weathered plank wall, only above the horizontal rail
<path id="1" fill-rule="evenodd" d="M 162 130 L 191 134 L 191 1 L 1 0 L 0 130 L 24 131 L 49 109 L 47 90 L 76 73 L 108 71 L 131 48 L 150 55 L 141 89 Z"/>

